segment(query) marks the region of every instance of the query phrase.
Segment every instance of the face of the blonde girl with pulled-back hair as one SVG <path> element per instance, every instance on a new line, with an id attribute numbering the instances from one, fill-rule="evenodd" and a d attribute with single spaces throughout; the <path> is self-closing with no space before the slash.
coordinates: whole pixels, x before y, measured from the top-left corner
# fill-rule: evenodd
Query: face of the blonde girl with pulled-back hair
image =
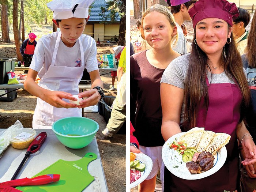
<path id="1" fill-rule="evenodd" d="M 172 36 L 177 33 L 177 27 L 172 28 L 166 15 L 153 11 L 143 19 L 145 39 L 154 49 L 170 48 Z"/>

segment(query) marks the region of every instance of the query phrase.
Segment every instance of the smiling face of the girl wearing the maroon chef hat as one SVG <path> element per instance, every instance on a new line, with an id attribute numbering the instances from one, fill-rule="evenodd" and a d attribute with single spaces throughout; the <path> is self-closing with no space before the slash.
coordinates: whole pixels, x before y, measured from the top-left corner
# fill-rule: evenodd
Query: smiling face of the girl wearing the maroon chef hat
<path id="1" fill-rule="evenodd" d="M 196 42 L 207 55 L 222 54 L 232 28 L 218 18 L 206 18 L 196 24 Z M 232 40 L 233 41 L 233 40 Z"/>

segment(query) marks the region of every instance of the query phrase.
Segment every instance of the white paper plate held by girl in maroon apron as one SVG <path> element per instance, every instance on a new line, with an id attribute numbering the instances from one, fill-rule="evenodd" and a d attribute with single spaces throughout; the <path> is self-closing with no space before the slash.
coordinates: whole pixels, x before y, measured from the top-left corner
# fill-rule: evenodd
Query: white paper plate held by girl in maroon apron
<path id="1" fill-rule="evenodd" d="M 184 133 L 173 135 L 165 142 L 162 148 L 163 163 L 172 174 L 182 179 L 196 180 L 210 176 L 221 169 L 227 158 L 227 149 L 225 146 L 215 153 L 214 165 L 210 170 L 199 174 L 191 174 L 186 167 L 186 163 L 182 161 L 182 155 L 179 155 L 176 150 L 170 149 L 170 144 L 175 138 L 178 139 Z"/>

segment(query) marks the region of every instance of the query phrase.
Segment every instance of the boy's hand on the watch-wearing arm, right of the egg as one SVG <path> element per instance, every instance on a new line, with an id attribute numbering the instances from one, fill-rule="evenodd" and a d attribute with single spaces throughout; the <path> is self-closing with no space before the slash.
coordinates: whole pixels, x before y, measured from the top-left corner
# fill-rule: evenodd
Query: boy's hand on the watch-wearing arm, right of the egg
<path id="1" fill-rule="evenodd" d="M 84 97 L 84 100 L 80 102 L 78 108 L 85 108 L 88 106 L 96 105 L 101 98 L 97 89 L 91 89 L 78 94 L 79 98 Z"/>

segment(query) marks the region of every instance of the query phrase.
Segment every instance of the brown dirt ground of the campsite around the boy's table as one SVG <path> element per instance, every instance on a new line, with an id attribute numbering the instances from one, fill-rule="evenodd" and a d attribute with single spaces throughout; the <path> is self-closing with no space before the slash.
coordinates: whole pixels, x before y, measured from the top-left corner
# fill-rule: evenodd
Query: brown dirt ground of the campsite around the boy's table
<path id="1" fill-rule="evenodd" d="M 51 31 L 51 26 L 43 26 L 38 28 L 31 27 L 31 32 L 36 31 L 41 37 L 46 31 Z M 11 31 L 12 32 L 12 31 Z M 0 58 L 16 58 L 16 50 L 13 34 L 10 33 L 11 43 L 0 42 Z M 101 54 L 110 53 L 109 49 L 116 44 L 101 44 L 97 47 L 97 57 Z M 15 71 L 17 74 L 23 71 Z M 100 70 L 100 74 L 105 74 L 110 71 Z M 116 90 L 110 91 L 112 78 L 110 73 L 101 76 L 105 95 L 116 96 Z M 117 79 L 116 79 L 117 82 Z M 115 87 L 116 87 L 115 82 Z M 17 91 L 18 97 L 12 102 L 0 102 L 0 127 L 8 128 L 19 120 L 23 127 L 32 128 L 32 118 L 36 106 L 37 97 L 31 95 L 25 89 Z M 91 118 L 98 122 L 99 131 L 96 134 L 98 147 L 101 155 L 101 161 L 106 177 L 109 192 L 124 192 L 125 191 L 125 135 L 114 135 L 112 138 L 106 138 L 101 132 L 106 128 L 106 122 L 103 116 L 99 113 L 84 113 L 84 117 Z M 115 167 L 115 169 L 113 169 Z M 115 178 L 115 179 L 113 179 Z"/>

